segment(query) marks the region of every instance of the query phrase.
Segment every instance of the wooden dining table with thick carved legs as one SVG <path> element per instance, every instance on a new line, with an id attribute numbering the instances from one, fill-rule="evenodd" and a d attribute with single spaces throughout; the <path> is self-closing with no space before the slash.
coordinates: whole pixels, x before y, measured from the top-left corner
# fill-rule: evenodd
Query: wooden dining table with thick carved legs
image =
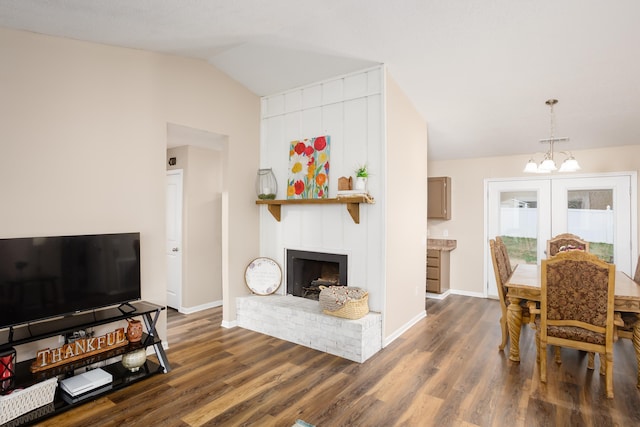
<path id="1" fill-rule="evenodd" d="M 507 326 L 509 328 L 509 359 L 520 362 L 520 327 L 522 326 L 523 300 L 540 301 L 542 281 L 541 268 L 536 264 L 518 264 L 505 283 L 509 306 L 507 307 Z M 616 290 L 614 310 L 635 313 L 640 319 L 640 284 L 622 271 L 616 271 Z M 640 322 L 633 328 L 633 347 L 638 364 L 638 388 L 640 388 Z"/>

